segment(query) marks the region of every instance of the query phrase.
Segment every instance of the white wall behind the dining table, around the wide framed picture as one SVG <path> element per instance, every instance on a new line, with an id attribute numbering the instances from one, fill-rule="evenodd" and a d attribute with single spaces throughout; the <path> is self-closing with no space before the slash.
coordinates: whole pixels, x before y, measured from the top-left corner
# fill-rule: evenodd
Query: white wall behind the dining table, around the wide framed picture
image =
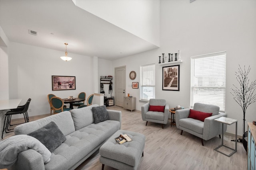
<path id="1" fill-rule="evenodd" d="M 60 98 L 78 96 L 80 92 L 94 93 L 92 57 L 68 53 L 71 61 L 63 61 L 65 51 L 55 51 L 10 42 L 9 47 L 10 98 L 31 98 L 29 116 L 50 113 L 47 94 Z M 52 76 L 76 76 L 76 90 L 52 91 Z M 69 107 L 68 104 L 66 104 Z"/>

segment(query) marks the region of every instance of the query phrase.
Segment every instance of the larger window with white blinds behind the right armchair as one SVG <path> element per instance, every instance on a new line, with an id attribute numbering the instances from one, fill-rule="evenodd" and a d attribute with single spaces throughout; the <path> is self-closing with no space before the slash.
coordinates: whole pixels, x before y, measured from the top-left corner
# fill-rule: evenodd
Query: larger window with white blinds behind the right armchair
<path id="1" fill-rule="evenodd" d="M 200 102 L 225 111 L 226 51 L 191 57 L 190 106 Z"/>

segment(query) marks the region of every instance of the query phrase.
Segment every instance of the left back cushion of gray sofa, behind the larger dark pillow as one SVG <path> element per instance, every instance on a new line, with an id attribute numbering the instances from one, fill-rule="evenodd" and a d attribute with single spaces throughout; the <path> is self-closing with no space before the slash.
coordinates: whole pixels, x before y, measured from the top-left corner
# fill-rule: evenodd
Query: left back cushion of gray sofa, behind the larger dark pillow
<path id="1" fill-rule="evenodd" d="M 69 111 L 63 111 L 55 115 L 18 125 L 14 129 L 14 134 L 27 135 L 28 133 L 47 125 L 51 121 L 56 123 L 58 128 L 65 136 L 75 131 L 74 121 L 71 117 L 71 113 Z"/>

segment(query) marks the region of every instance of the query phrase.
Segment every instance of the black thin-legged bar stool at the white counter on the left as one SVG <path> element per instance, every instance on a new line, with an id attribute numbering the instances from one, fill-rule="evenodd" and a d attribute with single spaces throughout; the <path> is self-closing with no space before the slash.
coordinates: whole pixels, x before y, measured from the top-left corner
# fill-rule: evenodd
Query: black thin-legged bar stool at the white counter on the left
<path id="1" fill-rule="evenodd" d="M 13 129 L 9 129 L 9 125 L 13 126 L 13 125 L 19 125 L 22 123 L 17 123 L 17 124 L 13 124 L 11 125 L 11 119 L 12 119 L 12 115 L 17 115 L 17 114 L 23 114 L 24 116 L 24 123 L 29 122 L 29 118 L 28 118 L 28 106 L 31 102 L 31 98 L 28 99 L 28 101 L 26 102 L 25 105 L 23 106 L 18 106 L 16 109 L 11 109 L 10 111 L 7 111 L 5 114 L 5 118 L 4 118 L 4 127 L 3 127 L 3 131 L 2 131 L 2 139 L 3 139 L 3 135 L 4 135 L 4 131 L 5 133 L 10 133 L 13 132 L 11 130 Z"/>

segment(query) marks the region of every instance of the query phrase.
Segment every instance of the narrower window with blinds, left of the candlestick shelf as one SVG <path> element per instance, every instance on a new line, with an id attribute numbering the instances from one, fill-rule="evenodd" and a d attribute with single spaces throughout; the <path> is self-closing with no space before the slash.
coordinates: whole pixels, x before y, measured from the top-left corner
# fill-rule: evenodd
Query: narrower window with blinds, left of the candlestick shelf
<path id="1" fill-rule="evenodd" d="M 155 64 L 140 66 L 140 100 L 149 101 L 155 98 Z"/>

